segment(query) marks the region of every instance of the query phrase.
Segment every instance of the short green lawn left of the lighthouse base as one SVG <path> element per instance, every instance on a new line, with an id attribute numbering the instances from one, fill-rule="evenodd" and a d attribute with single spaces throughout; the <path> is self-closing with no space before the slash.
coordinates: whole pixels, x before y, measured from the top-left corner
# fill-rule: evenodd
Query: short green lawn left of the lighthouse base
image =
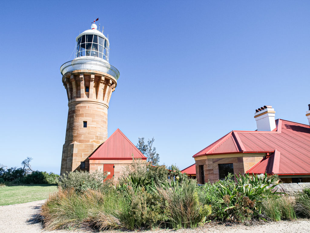
<path id="1" fill-rule="evenodd" d="M 38 201 L 48 198 L 57 185 L 24 185 L 0 187 L 0 206 Z"/>

